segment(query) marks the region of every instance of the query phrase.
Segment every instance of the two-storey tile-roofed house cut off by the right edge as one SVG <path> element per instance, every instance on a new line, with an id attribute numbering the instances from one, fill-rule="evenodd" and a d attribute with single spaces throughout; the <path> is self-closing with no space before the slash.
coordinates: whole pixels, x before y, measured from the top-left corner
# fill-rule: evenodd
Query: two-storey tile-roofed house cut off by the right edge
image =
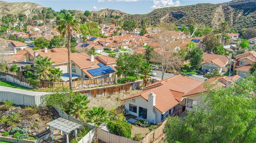
<path id="1" fill-rule="evenodd" d="M 256 51 L 247 51 L 245 49 L 245 53 L 236 55 L 233 62 L 233 70 L 236 71 L 236 74 L 241 77 L 250 76 L 250 68 L 256 62 Z"/>

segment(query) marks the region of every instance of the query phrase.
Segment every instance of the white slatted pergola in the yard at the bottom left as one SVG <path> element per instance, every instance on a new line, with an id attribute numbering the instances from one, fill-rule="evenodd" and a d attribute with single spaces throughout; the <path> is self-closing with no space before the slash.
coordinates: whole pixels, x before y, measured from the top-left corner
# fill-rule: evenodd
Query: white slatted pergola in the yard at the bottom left
<path id="1" fill-rule="evenodd" d="M 62 131 L 64 131 L 64 133 L 66 134 L 66 143 L 68 143 L 68 134 L 71 131 L 75 131 L 75 137 L 77 136 L 77 129 L 81 126 L 78 123 L 74 123 L 72 121 L 68 121 L 66 119 L 63 118 L 58 118 L 58 119 L 54 119 L 53 121 L 50 121 L 49 123 L 46 123 L 47 125 L 50 126 L 50 129 L 52 131 L 52 140 L 54 140 L 53 138 L 53 130 L 54 129 L 59 129 L 62 135 Z"/>

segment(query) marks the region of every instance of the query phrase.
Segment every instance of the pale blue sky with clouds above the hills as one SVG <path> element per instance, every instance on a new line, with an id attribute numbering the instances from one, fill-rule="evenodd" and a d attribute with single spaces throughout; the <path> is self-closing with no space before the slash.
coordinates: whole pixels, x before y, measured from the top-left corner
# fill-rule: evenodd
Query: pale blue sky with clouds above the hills
<path id="1" fill-rule="evenodd" d="M 147 14 L 157 8 L 186 6 L 198 3 L 218 4 L 231 0 L 3 0 L 6 2 L 33 2 L 55 11 L 89 10 L 98 11 L 105 8 L 121 10 L 128 14 Z"/>

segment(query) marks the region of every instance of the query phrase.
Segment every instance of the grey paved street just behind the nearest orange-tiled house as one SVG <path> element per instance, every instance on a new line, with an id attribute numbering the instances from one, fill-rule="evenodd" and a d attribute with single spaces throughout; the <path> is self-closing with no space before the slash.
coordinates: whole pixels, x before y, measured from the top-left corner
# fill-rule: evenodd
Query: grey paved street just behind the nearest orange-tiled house
<path id="1" fill-rule="evenodd" d="M 156 80 L 161 80 L 162 79 L 162 72 L 161 71 L 154 71 L 156 72 L 156 76 L 151 76 L 151 78 L 153 79 L 156 79 Z M 172 76 L 176 76 L 177 74 L 172 74 L 172 73 L 164 73 L 164 79 L 166 78 L 170 78 Z M 200 80 L 200 81 L 204 81 L 206 80 L 207 78 L 204 78 L 202 74 L 199 74 L 199 75 L 192 75 L 192 76 L 189 76 L 189 78 L 193 78 L 193 79 L 196 79 L 196 80 Z"/>

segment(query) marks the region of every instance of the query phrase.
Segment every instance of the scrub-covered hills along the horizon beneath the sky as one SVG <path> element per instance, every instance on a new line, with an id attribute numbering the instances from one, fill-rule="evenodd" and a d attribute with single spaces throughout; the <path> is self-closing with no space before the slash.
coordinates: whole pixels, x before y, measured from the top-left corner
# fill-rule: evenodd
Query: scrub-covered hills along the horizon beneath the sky
<path id="1" fill-rule="evenodd" d="M 35 11 L 42 11 L 43 6 L 31 2 L 0 1 L 0 15 L 19 14 L 32 17 Z M 83 13 L 73 10 L 75 13 Z M 103 22 L 110 24 L 111 15 L 121 16 L 118 20 L 132 20 L 140 24 L 142 18 L 147 25 L 157 25 L 160 22 L 172 22 L 176 25 L 188 25 L 190 18 L 201 26 L 220 29 L 222 22 L 228 22 L 229 29 L 240 30 L 256 26 L 256 0 L 233 0 L 221 4 L 195 4 L 189 6 L 158 8 L 148 14 L 127 14 L 120 10 L 103 9 L 92 11 L 93 19 L 102 17 Z M 108 16 L 106 18 L 106 16 Z M 96 20 L 97 21 L 97 20 Z"/>

